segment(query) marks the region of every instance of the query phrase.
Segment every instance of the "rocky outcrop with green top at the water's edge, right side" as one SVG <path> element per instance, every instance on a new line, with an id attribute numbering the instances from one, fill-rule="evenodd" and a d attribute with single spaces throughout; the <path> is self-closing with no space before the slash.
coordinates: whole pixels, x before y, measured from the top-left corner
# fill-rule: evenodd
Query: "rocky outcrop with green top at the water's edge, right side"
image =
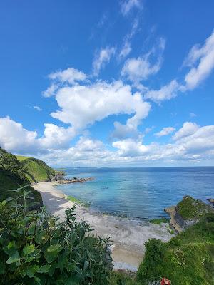
<path id="1" fill-rule="evenodd" d="M 164 210 L 170 214 L 170 224 L 178 232 L 196 224 L 204 214 L 214 212 L 210 205 L 190 196 L 183 197 L 177 206 L 168 207 Z"/>

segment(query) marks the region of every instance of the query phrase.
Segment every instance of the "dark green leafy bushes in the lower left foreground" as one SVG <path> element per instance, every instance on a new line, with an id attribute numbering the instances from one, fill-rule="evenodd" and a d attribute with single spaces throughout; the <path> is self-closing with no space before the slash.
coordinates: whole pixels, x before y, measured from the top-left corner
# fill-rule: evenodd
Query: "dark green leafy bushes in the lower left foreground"
<path id="1" fill-rule="evenodd" d="M 60 222 L 44 208 L 30 212 L 24 187 L 14 191 L 16 199 L 0 202 L 1 284 L 109 284 L 108 239 L 93 237 L 75 207 Z"/>

